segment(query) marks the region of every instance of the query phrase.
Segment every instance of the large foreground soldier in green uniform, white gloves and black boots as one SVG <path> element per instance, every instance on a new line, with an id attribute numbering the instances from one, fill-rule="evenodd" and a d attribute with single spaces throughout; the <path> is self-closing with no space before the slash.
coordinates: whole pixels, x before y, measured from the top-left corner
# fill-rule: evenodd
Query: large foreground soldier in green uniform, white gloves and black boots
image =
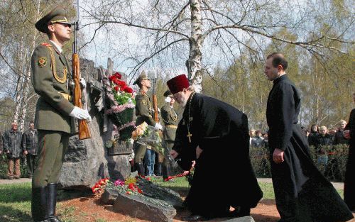
<path id="1" fill-rule="evenodd" d="M 35 23 L 35 28 L 46 33 L 49 41 L 38 45 L 31 58 L 32 84 L 40 96 L 35 111 L 38 161 L 32 178 L 33 221 L 60 221 L 55 216 L 57 183 L 73 130 L 72 117 L 91 119 L 87 110 L 71 102 L 70 66 L 62 53 L 62 46 L 70 40 L 70 26 L 61 6 Z"/>

